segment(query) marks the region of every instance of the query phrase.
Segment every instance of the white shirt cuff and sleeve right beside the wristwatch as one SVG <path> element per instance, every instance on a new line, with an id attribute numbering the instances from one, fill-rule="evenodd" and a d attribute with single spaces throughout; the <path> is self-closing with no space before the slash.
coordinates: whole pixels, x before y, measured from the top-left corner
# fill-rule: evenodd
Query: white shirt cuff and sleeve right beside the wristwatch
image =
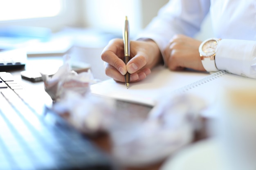
<path id="1" fill-rule="evenodd" d="M 223 39 L 215 56 L 218 70 L 256 78 L 256 41 Z"/>

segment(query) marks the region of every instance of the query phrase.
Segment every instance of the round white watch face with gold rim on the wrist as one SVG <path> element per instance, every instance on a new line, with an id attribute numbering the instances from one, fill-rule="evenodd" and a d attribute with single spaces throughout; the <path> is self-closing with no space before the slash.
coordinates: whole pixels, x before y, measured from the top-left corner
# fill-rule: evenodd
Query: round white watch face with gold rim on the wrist
<path id="1" fill-rule="evenodd" d="M 200 53 L 203 56 L 211 56 L 216 53 L 218 40 L 216 39 L 210 39 L 202 43 L 202 46 L 200 47 Z"/>

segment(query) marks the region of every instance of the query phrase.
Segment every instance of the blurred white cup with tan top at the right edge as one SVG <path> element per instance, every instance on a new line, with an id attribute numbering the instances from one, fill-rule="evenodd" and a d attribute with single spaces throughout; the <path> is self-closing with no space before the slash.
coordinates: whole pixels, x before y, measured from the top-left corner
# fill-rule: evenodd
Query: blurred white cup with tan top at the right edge
<path id="1" fill-rule="evenodd" d="M 256 87 L 223 88 L 216 134 L 230 170 L 256 169 Z"/>

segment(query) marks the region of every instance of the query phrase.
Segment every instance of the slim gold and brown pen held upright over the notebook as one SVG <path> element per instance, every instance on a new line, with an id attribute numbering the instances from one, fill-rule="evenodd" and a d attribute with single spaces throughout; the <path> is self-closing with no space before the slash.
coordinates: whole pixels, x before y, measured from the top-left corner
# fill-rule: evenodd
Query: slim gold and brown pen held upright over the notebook
<path id="1" fill-rule="evenodd" d="M 129 37 L 129 22 L 127 16 L 125 17 L 124 23 L 124 33 L 123 33 L 123 40 L 124 40 L 124 63 L 127 64 L 130 60 L 130 37 Z M 129 88 L 130 84 L 130 73 L 126 73 L 124 75 L 126 88 Z"/>

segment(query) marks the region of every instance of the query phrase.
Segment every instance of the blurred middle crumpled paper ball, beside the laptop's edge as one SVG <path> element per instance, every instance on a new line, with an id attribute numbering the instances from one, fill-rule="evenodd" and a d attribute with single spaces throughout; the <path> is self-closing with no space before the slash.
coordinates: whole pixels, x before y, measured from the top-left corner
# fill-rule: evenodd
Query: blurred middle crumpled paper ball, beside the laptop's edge
<path id="1" fill-rule="evenodd" d="M 74 128 L 85 134 L 94 135 L 106 132 L 111 126 L 115 101 L 70 91 L 53 105 L 53 110 L 65 117 Z"/>

